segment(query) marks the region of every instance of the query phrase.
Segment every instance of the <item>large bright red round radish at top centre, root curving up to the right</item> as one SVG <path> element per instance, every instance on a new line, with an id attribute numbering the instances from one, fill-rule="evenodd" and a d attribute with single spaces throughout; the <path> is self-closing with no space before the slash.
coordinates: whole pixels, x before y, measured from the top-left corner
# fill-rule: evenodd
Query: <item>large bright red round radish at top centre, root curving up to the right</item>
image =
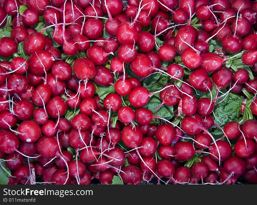
<path id="1" fill-rule="evenodd" d="M 120 44 L 134 44 L 138 41 L 138 32 L 136 28 L 129 23 L 121 23 L 116 32 L 117 41 Z"/>

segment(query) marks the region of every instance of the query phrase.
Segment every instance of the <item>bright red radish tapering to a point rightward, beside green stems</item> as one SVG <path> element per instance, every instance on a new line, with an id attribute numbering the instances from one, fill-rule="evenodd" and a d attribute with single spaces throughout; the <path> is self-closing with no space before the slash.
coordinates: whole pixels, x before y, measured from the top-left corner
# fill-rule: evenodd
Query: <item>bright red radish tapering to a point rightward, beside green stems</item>
<path id="1" fill-rule="evenodd" d="M 206 72 L 212 72 L 220 69 L 223 64 L 223 58 L 221 58 L 216 53 L 202 53 L 202 65 L 200 66 L 201 69 L 204 69 Z"/>

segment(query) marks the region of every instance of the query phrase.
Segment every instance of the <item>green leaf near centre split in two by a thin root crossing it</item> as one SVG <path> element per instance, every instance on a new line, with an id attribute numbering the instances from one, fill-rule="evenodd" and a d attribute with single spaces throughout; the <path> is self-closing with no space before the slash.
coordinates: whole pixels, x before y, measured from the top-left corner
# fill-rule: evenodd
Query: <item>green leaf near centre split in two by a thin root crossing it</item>
<path id="1" fill-rule="evenodd" d="M 153 96 L 144 107 L 151 111 L 154 111 L 161 104 L 162 104 L 162 101 L 158 99 L 156 96 Z M 153 114 L 158 117 L 163 117 L 165 119 L 171 119 L 174 116 L 173 107 L 168 105 L 163 105 L 157 111 L 153 112 Z"/>

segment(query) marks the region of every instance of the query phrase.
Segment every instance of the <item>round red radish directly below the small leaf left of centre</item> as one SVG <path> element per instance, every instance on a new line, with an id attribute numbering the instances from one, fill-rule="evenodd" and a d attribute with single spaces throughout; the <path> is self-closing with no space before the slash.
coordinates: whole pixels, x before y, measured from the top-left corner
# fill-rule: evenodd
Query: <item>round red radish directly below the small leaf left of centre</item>
<path id="1" fill-rule="evenodd" d="M 105 97 L 103 105 L 105 109 L 117 112 L 122 105 L 121 97 L 116 93 L 110 93 Z"/>

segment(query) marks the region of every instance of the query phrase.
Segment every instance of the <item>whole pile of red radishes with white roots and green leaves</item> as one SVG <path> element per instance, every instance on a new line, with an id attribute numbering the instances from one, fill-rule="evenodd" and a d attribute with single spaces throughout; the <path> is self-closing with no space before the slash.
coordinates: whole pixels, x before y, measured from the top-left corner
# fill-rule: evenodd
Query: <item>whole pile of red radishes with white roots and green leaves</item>
<path id="1" fill-rule="evenodd" d="M 0 0 L 0 184 L 257 184 L 256 12 Z"/>

